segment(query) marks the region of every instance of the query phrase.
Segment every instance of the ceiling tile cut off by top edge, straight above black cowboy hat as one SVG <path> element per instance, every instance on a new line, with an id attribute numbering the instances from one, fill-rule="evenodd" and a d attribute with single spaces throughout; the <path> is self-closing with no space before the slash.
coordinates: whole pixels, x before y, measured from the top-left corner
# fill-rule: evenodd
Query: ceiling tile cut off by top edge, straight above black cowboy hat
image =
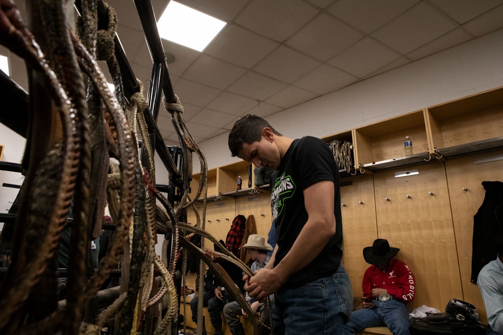
<path id="1" fill-rule="evenodd" d="M 370 34 L 420 0 L 340 0 L 328 12 Z"/>

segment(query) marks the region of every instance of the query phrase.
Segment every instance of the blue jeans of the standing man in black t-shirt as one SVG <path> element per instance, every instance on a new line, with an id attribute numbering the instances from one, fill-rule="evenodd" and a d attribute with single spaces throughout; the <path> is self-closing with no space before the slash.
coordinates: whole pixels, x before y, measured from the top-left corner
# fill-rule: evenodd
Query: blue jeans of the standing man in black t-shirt
<path id="1" fill-rule="evenodd" d="M 339 335 L 353 309 L 353 289 L 342 263 L 333 275 L 274 295 L 274 334 Z"/>

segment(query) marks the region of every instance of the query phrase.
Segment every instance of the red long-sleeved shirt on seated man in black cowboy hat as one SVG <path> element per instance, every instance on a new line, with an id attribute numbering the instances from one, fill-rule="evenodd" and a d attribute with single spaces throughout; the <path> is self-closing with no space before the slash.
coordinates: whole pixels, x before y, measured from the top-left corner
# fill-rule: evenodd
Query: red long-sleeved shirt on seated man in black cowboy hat
<path id="1" fill-rule="evenodd" d="M 408 266 L 393 258 L 384 271 L 375 265 L 369 267 L 363 276 L 362 288 L 363 296 L 370 299 L 373 299 L 372 289 L 382 288 L 393 297 L 408 302 L 414 300 L 415 280 Z"/>

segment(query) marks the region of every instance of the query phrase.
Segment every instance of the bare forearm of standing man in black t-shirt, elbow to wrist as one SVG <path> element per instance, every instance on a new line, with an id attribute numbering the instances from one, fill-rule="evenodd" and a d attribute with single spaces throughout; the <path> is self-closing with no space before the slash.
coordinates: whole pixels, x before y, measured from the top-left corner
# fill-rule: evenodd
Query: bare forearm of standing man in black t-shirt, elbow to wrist
<path id="1" fill-rule="evenodd" d="M 286 281 L 295 272 L 309 265 L 333 236 L 334 227 L 335 222 L 308 219 L 288 254 L 275 268 L 280 277 Z"/>

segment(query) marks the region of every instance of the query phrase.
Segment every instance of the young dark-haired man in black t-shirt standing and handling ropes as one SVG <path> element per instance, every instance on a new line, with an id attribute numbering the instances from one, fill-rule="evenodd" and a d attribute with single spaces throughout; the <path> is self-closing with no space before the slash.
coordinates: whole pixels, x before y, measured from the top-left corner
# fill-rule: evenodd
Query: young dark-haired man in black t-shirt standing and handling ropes
<path id="1" fill-rule="evenodd" d="M 247 114 L 232 127 L 229 149 L 276 170 L 270 188 L 277 245 L 264 269 L 244 276 L 244 289 L 256 300 L 276 293 L 275 334 L 342 333 L 353 293 L 341 263 L 339 171 L 328 146 L 315 137 L 282 136 Z"/>

